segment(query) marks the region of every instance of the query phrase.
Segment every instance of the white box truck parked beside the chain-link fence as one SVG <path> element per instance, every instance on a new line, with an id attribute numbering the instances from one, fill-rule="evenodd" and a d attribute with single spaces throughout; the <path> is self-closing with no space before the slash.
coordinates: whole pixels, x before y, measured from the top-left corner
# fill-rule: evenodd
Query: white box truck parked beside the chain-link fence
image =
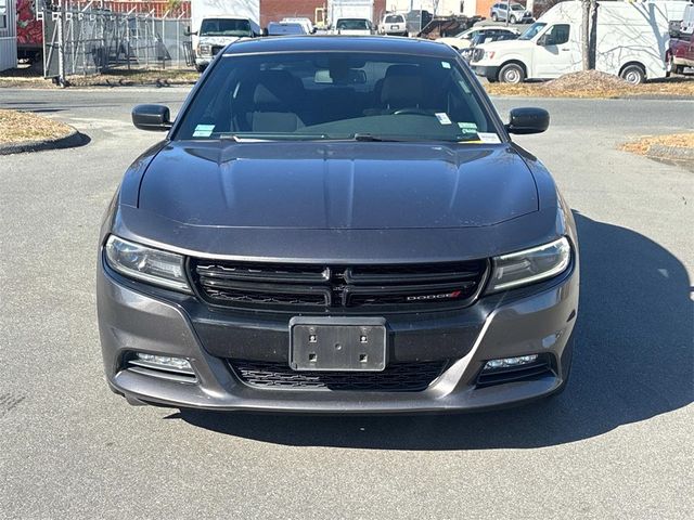
<path id="1" fill-rule="evenodd" d="M 260 0 L 195 0 L 189 32 L 195 68 L 203 72 L 229 43 L 260 36 Z"/>

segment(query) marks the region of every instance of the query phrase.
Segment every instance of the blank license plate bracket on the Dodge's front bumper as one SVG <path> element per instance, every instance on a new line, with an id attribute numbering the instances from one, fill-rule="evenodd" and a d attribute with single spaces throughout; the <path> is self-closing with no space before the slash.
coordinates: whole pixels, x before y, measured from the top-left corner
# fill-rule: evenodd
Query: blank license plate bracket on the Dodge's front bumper
<path id="1" fill-rule="evenodd" d="M 383 317 L 295 316 L 290 321 L 290 366 L 295 370 L 381 372 L 386 354 Z"/>

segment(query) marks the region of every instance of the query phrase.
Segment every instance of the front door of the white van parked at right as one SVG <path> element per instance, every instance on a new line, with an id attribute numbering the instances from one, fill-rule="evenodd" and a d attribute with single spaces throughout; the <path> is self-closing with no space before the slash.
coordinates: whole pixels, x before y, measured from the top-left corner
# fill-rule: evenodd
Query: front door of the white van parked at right
<path id="1" fill-rule="evenodd" d="M 563 74 L 580 70 L 578 31 L 569 24 L 555 24 L 548 27 L 537 42 L 531 77 L 557 78 Z"/>

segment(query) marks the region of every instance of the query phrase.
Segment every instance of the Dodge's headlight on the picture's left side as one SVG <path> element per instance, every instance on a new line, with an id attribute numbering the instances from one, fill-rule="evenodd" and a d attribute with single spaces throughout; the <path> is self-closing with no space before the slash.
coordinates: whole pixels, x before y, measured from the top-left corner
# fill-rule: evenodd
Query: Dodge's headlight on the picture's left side
<path id="1" fill-rule="evenodd" d="M 181 255 L 153 249 L 111 235 L 106 240 L 106 263 L 114 271 L 130 278 L 191 292 Z"/>

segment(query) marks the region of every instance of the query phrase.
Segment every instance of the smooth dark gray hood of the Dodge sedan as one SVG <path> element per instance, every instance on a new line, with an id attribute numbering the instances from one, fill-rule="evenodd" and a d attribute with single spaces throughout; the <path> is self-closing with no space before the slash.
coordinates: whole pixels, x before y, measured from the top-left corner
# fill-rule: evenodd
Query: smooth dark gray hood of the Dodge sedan
<path id="1" fill-rule="evenodd" d="M 192 226 L 386 230 L 500 223 L 538 210 L 507 144 L 174 142 L 138 208 Z"/>

